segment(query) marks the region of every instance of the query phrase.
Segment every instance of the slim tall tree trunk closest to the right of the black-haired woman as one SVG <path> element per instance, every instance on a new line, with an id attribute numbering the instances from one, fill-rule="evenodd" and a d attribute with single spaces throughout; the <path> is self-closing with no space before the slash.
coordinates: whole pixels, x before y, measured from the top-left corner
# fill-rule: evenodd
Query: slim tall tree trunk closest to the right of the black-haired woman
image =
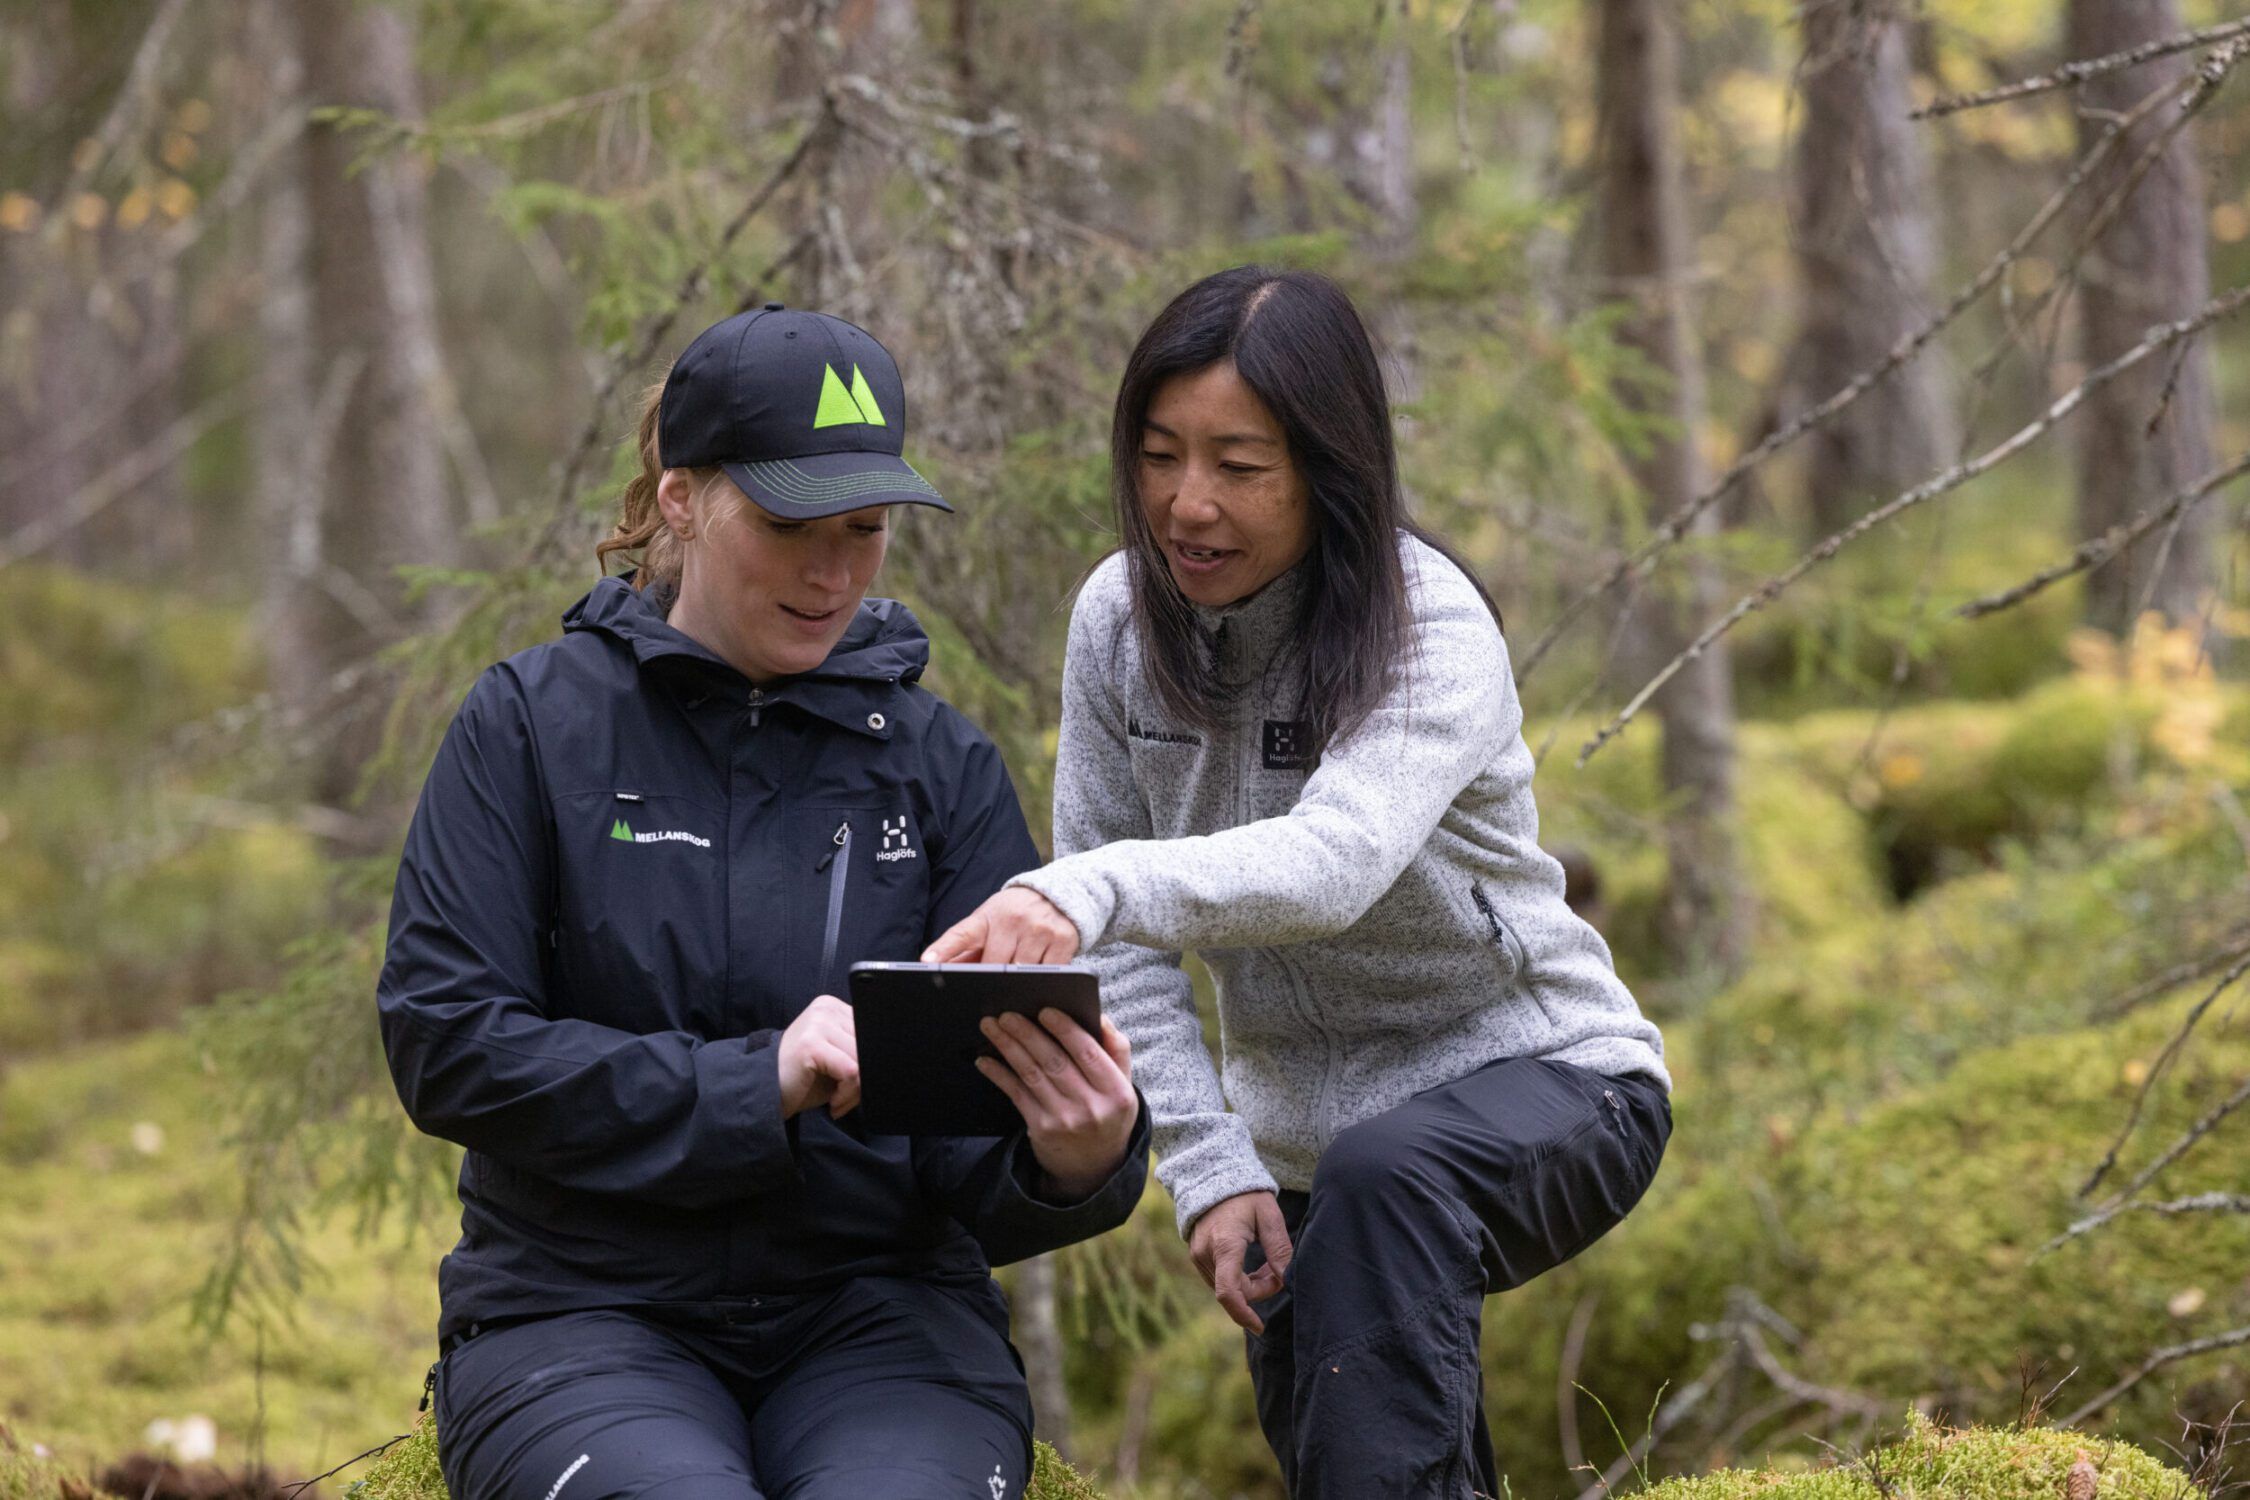
<path id="1" fill-rule="evenodd" d="M 1699 450 L 1703 376 L 1685 308 L 1688 214 L 1678 162 L 1678 36 L 1672 0 L 1595 0 L 1600 13 L 1598 139 L 1600 261 L 1611 286 L 1631 301 L 1620 337 L 1663 380 L 1622 398 L 1670 423 L 1631 470 L 1649 508 L 1672 513 L 1703 490 Z M 1706 510 L 1692 535 L 1710 535 Z M 1710 562 L 1690 555 L 1681 585 L 1652 580 L 1640 600 L 1634 641 L 1636 672 L 1654 675 L 1688 643 L 1685 621 L 1717 603 Z M 1656 697 L 1663 717 L 1663 783 L 1674 805 L 1665 819 L 1670 884 L 1665 938 L 1694 972 L 1728 974 L 1746 949 L 1748 902 L 1735 857 L 1735 690 L 1726 643 L 1692 661 Z"/>

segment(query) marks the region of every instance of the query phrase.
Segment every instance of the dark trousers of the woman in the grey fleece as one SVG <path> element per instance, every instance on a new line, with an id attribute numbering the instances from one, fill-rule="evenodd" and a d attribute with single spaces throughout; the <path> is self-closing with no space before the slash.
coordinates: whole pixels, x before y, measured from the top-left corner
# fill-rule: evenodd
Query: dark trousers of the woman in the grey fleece
<path id="1" fill-rule="evenodd" d="M 1672 1104 L 1642 1075 L 1487 1064 L 1346 1129 L 1312 1192 L 1280 1194 L 1296 1250 L 1246 1334 L 1258 1424 L 1296 1500 L 1496 1496 L 1478 1334 L 1521 1286 L 1647 1192 Z M 1249 1268 L 1264 1264 L 1253 1246 Z"/>

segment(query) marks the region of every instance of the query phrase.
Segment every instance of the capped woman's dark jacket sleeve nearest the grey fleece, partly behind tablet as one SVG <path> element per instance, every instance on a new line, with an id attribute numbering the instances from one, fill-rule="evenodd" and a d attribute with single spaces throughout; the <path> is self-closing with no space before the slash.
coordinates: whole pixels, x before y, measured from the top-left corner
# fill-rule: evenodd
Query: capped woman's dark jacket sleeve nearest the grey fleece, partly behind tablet
<path id="1" fill-rule="evenodd" d="M 952 708 L 934 744 L 932 798 L 945 839 L 932 852 L 925 942 L 976 911 L 986 897 L 1040 864 L 1024 807 L 999 751 Z M 914 1169 L 934 1201 L 976 1237 L 994 1266 L 1060 1250 L 1125 1223 L 1148 1185 L 1148 1104 L 1109 1181 L 1076 1203 L 1044 1196 L 1030 1136 L 934 1136 L 914 1145 Z"/>

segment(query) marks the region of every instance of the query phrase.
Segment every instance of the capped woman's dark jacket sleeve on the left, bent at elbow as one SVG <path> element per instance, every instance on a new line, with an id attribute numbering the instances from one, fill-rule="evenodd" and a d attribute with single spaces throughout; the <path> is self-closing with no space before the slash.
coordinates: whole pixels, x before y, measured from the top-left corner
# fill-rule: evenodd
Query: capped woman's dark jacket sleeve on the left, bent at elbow
<path id="1" fill-rule="evenodd" d="M 376 1007 L 416 1127 L 587 1192 L 704 1208 L 799 1181 L 778 1032 L 547 1014 L 554 825 L 513 672 L 446 731 L 398 859 Z"/>

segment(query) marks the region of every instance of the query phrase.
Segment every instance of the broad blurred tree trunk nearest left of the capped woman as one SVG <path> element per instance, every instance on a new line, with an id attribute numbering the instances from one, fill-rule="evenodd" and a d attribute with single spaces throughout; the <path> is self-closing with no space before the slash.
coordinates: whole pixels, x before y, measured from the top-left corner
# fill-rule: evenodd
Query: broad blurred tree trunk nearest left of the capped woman
<path id="1" fill-rule="evenodd" d="M 259 22 L 279 99 L 416 112 L 410 11 L 268 0 Z M 362 151 L 326 124 L 292 142 L 259 254 L 268 645 L 281 702 L 331 713 L 308 756 L 322 801 L 353 789 L 362 713 L 326 704 L 331 677 L 416 621 L 396 569 L 454 562 L 459 546 L 434 416 L 450 382 L 421 166 Z"/>

